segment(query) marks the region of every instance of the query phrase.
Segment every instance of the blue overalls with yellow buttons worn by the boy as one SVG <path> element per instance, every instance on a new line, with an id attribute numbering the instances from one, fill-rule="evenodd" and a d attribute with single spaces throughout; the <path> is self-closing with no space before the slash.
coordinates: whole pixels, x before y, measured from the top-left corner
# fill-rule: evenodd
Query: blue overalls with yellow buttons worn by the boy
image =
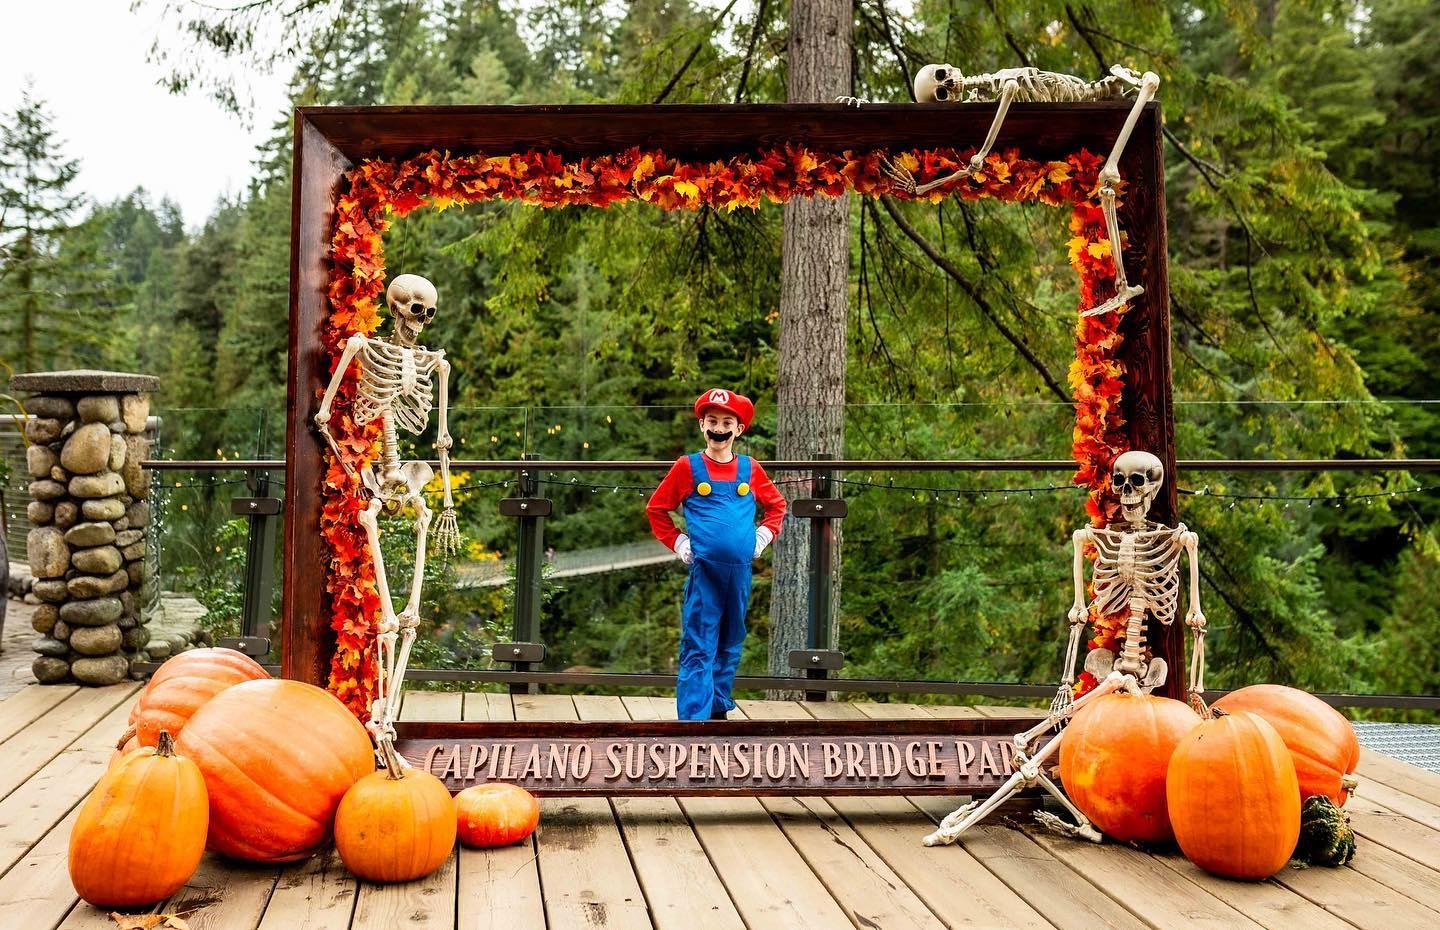
<path id="1" fill-rule="evenodd" d="M 680 626 L 675 711 L 681 720 L 711 720 L 734 708 L 730 687 L 740 665 L 755 559 L 750 458 L 736 459 L 734 481 L 711 481 L 706 456 L 690 456 L 693 489 L 683 513 L 694 560 Z"/>

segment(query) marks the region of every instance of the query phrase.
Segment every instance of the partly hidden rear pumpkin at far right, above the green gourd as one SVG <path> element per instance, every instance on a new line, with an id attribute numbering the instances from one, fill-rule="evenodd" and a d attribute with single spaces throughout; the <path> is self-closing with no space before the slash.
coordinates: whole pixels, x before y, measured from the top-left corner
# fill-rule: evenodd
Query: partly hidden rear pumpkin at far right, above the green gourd
<path id="1" fill-rule="evenodd" d="M 1250 685 L 1215 701 L 1215 710 L 1248 711 L 1274 727 L 1295 760 L 1300 799 L 1323 795 L 1345 806 L 1355 790 L 1359 740 L 1349 720 L 1313 694 L 1284 685 Z"/>

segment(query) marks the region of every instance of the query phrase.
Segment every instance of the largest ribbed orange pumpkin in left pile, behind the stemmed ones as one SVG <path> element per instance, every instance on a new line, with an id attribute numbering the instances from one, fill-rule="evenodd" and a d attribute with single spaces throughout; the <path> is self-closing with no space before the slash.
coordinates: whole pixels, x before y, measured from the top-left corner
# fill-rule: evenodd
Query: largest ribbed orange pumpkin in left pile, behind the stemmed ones
<path id="1" fill-rule="evenodd" d="M 268 678 L 222 691 L 179 740 L 210 790 L 209 848 L 289 862 L 325 842 L 350 786 L 374 770 L 370 737 L 333 694 Z"/>

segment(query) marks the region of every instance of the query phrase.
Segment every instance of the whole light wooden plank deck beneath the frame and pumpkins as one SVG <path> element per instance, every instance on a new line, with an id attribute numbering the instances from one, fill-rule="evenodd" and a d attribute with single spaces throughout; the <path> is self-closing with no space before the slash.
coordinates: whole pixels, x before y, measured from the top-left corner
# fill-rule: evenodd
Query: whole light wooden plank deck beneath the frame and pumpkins
<path id="1" fill-rule="evenodd" d="M 0 799 L 0 927 L 112 926 L 108 914 L 76 903 L 65 858 L 75 803 L 108 763 L 135 687 L 121 690 L 112 700 L 99 690 L 36 687 L 0 701 L 0 763 L 30 770 Z M 68 692 L 55 697 L 59 691 Z M 513 705 L 507 694 L 419 691 L 406 695 L 402 715 L 500 720 L 513 707 L 530 720 L 674 718 L 670 698 L 517 695 Z M 903 703 L 740 707 L 736 717 L 984 713 Z M 29 720 L 13 724 L 7 710 Z M 66 710 L 75 713 L 62 720 Z M 52 717 L 59 726 L 48 723 L 43 734 L 30 726 Z M 982 826 L 958 847 L 927 849 L 919 842 L 924 813 L 946 813 L 956 803 L 948 798 L 547 799 L 560 811 L 546 813 L 539 845 L 467 849 L 420 882 L 357 882 L 334 851 L 284 868 L 207 855 L 163 910 L 189 910 L 194 930 L 456 930 L 456 914 L 464 930 L 1431 930 L 1440 926 L 1437 776 L 1372 753 L 1361 775 L 1361 793 L 1346 806 L 1361 835 L 1356 861 L 1286 870 L 1269 882 L 1231 882 L 1178 855 L 1093 847 L 1028 823 Z M 582 812 L 576 800 L 603 811 Z"/>

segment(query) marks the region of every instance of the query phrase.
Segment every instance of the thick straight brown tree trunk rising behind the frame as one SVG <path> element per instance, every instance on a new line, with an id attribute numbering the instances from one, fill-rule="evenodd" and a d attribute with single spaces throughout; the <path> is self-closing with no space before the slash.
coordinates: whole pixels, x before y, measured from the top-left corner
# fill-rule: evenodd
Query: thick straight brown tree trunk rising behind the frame
<path id="1" fill-rule="evenodd" d="M 786 96 L 792 104 L 828 102 L 850 94 L 851 0 L 793 0 Z M 785 204 L 780 261 L 780 356 L 778 455 L 841 455 L 845 413 L 845 314 L 850 307 L 850 197 L 796 197 Z M 793 478 L 796 475 L 785 475 Z M 788 500 L 806 497 L 808 482 L 785 484 Z M 834 573 L 838 580 L 837 533 Z M 837 597 L 832 605 L 838 605 Z M 770 674 L 793 675 L 791 649 L 804 649 L 809 620 L 809 521 L 786 518 L 775 543 L 770 589 Z M 825 619 L 835 648 L 837 612 Z M 801 697 L 772 691 L 772 698 Z"/>

